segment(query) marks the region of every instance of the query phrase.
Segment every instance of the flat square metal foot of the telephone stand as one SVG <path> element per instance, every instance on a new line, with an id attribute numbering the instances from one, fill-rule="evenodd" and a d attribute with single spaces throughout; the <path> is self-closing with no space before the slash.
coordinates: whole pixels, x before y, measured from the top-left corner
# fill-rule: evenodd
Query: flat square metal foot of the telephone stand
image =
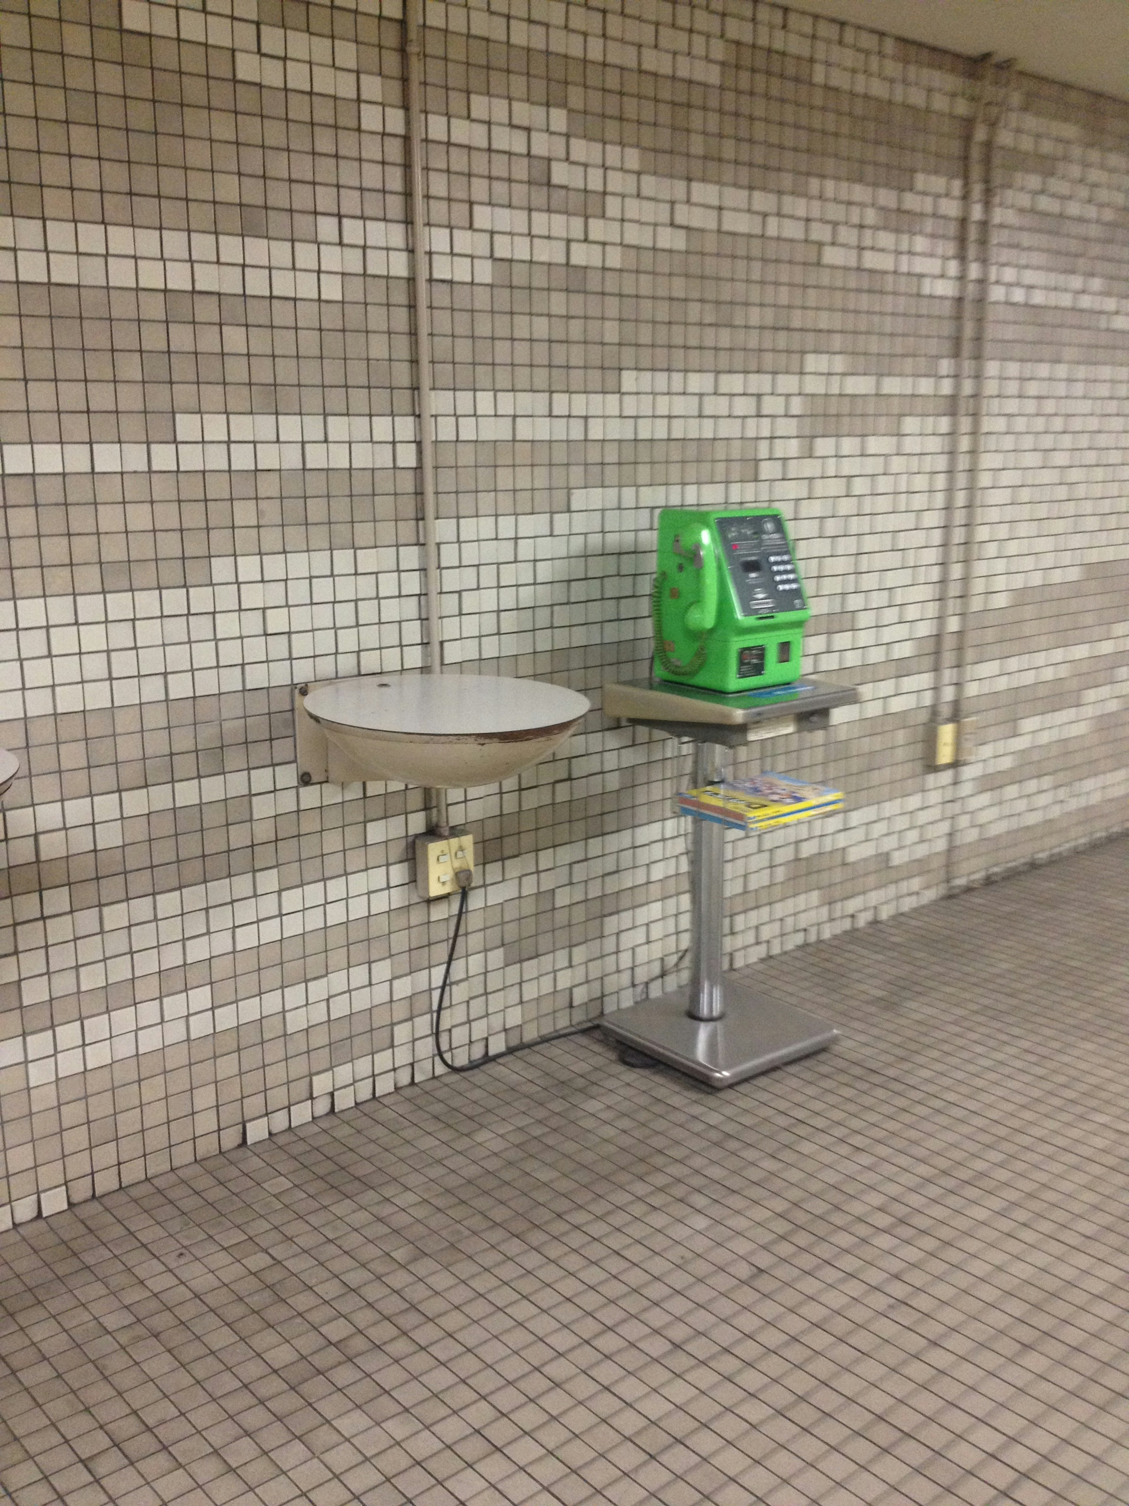
<path id="1" fill-rule="evenodd" d="M 620 1045 L 655 1057 L 711 1087 L 730 1087 L 784 1062 L 822 1051 L 838 1030 L 790 1005 L 759 998 L 747 983 L 724 980 L 721 1020 L 691 1020 L 686 989 L 620 1009 L 602 1021 Z"/>

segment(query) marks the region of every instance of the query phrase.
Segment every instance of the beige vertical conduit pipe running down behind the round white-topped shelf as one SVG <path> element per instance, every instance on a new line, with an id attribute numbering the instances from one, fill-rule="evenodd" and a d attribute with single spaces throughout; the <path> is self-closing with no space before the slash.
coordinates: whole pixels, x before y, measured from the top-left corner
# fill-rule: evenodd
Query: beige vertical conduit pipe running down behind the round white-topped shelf
<path id="1" fill-rule="evenodd" d="M 403 6 L 403 60 L 408 116 L 408 197 L 411 200 L 412 319 L 415 325 L 415 390 L 420 420 L 420 491 L 423 495 L 423 589 L 428 613 L 428 670 L 443 673 L 440 634 L 440 541 L 435 524 L 435 425 L 431 399 L 431 301 L 428 297 L 428 200 L 423 181 L 423 5 Z M 426 792 L 435 830 L 446 836 L 447 791 Z"/>

